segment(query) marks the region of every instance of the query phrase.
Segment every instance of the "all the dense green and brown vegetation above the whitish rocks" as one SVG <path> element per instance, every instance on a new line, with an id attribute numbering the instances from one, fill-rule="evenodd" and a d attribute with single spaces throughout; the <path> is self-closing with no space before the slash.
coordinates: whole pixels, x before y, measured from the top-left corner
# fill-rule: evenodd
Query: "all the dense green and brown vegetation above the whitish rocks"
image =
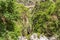
<path id="1" fill-rule="evenodd" d="M 32 11 L 16 0 L 0 0 L 0 40 L 31 33 L 60 38 L 60 0 L 36 2 Z"/>

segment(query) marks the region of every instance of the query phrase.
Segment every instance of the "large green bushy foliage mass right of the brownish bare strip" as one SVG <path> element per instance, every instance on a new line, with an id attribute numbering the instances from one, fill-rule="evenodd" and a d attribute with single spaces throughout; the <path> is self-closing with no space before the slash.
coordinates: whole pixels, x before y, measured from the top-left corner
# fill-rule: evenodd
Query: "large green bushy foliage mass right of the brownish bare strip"
<path id="1" fill-rule="evenodd" d="M 57 16 L 60 13 L 56 13 L 56 10 L 58 10 L 56 4 L 52 1 L 36 3 L 32 16 L 34 32 L 44 33 L 47 36 L 60 33 L 59 18 Z"/>

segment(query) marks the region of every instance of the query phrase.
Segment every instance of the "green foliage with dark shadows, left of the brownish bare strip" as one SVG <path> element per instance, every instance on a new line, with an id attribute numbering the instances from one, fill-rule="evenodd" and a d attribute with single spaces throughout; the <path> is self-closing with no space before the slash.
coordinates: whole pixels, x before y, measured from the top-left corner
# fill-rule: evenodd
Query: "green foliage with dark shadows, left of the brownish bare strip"
<path id="1" fill-rule="evenodd" d="M 1 40 L 17 40 L 17 37 L 21 35 L 21 16 L 27 10 L 24 5 L 17 3 L 15 0 L 0 0 Z"/>

